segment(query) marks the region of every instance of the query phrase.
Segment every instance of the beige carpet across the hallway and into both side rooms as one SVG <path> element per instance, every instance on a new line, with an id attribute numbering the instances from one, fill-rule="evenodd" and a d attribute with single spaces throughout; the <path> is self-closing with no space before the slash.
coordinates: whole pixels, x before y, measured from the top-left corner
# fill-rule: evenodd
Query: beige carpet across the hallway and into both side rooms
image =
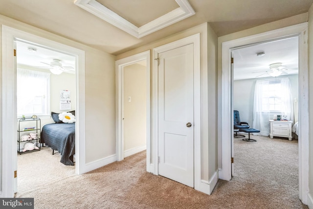
<path id="1" fill-rule="evenodd" d="M 297 141 L 251 138 L 257 142 L 235 138 L 234 177 L 211 195 L 147 173 L 145 151 L 75 175 L 74 166 L 43 149 L 19 156 L 16 197 L 34 197 L 36 209 L 307 209 L 298 199 Z M 28 174 L 25 158 L 36 166 Z"/>

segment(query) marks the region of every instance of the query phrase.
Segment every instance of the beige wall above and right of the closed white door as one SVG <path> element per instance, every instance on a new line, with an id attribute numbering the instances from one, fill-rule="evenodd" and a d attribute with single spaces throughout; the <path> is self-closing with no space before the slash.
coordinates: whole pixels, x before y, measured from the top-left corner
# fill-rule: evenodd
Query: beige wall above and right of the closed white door
<path id="1" fill-rule="evenodd" d="M 216 135 L 216 104 L 217 104 L 217 36 L 208 23 L 195 26 L 173 36 L 161 39 L 146 46 L 117 55 L 116 60 L 152 50 L 179 39 L 200 33 L 201 39 L 201 179 L 209 181 L 217 169 L 217 135 Z M 153 56 L 153 53 L 151 53 Z M 151 60 L 152 57 L 151 57 Z M 153 69 L 153 63 L 151 63 Z M 209 112 L 209 116 L 208 116 Z"/>

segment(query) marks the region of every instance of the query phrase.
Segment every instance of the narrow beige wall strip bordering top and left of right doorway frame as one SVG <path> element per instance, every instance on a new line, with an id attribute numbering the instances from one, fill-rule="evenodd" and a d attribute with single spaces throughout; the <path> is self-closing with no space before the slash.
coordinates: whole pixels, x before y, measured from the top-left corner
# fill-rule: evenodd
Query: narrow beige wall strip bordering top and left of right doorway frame
<path id="1" fill-rule="evenodd" d="M 282 27 L 291 26 L 294 24 L 306 23 L 307 21 L 308 21 L 308 13 L 304 13 L 304 14 L 293 16 L 291 18 L 286 18 L 286 19 L 275 21 L 272 23 L 259 25 L 259 26 L 249 28 L 249 29 L 246 29 L 243 31 L 239 31 L 236 33 L 232 33 L 232 34 L 228 34 L 228 35 L 219 37 L 218 38 L 218 81 L 219 81 L 219 83 L 218 83 L 218 94 L 221 95 L 221 91 L 222 91 L 221 81 L 222 81 L 222 43 L 223 42 L 243 38 L 246 36 L 256 35 L 259 33 L 279 29 Z M 221 107 L 221 106 L 222 106 L 222 97 L 219 96 L 218 97 L 218 107 Z M 218 115 L 219 116 L 222 115 L 221 108 L 218 109 Z M 218 118 L 218 126 L 221 127 L 221 125 L 222 125 L 222 120 L 219 117 Z M 221 129 L 219 129 L 219 131 L 221 131 Z M 220 132 L 218 134 L 221 135 Z M 219 153 L 222 153 L 221 144 L 222 144 L 222 142 L 219 141 L 219 147 L 218 147 Z M 222 155 L 218 156 L 218 162 L 219 162 L 219 168 L 222 168 Z"/>

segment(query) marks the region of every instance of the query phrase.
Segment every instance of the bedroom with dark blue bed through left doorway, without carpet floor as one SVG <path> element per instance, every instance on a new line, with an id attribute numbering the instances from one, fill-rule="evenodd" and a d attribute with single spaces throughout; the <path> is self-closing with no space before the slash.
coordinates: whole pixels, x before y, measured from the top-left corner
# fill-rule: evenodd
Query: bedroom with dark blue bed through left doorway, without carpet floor
<path id="1" fill-rule="evenodd" d="M 59 153 L 60 163 L 74 166 L 75 57 L 22 41 L 17 41 L 17 49 L 17 116 L 21 121 L 23 117 L 36 117 L 40 121 L 35 127 L 37 130 L 18 135 L 18 152 L 29 153 L 29 150 L 23 151 L 28 142 L 27 145 L 33 144 L 28 149 L 49 148 L 51 155 Z M 30 128 L 31 122 L 20 122 L 24 127 L 19 129 Z M 38 140 L 26 139 L 24 133 L 36 134 Z"/>

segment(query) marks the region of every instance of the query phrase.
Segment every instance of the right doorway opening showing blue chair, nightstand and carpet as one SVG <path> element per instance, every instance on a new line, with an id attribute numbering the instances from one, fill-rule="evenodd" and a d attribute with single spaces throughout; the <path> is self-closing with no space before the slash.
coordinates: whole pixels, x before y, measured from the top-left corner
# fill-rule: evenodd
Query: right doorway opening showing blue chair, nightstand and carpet
<path id="1" fill-rule="evenodd" d="M 231 50 L 231 108 L 239 111 L 241 121 L 246 121 L 250 129 L 260 131 L 248 136 L 247 133 L 237 132 L 238 129 L 234 130 L 236 134 L 233 132 L 231 144 L 234 158 L 232 176 L 251 183 L 262 179 L 263 184 L 259 186 L 267 186 L 269 190 L 285 185 L 285 195 L 295 199 L 295 192 L 299 192 L 298 139 L 295 134 L 291 135 L 291 127 L 298 122 L 299 112 L 296 102 L 299 95 L 298 43 L 298 36 L 294 36 Z M 258 56 L 260 53 L 263 55 Z M 272 63 L 277 64 L 277 68 L 273 68 Z M 277 130 L 285 132 L 277 132 L 271 139 L 270 120 L 274 119 L 274 115 L 282 116 Z M 283 116 L 288 121 L 283 120 Z M 281 126 L 286 128 L 282 129 Z M 244 138 L 240 137 L 242 135 Z M 245 141 L 248 138 L 250 140 Z M 289 159 L 288 162 L 284 162 L 285 159 Z M 285 178 L 277 178 L 275 187 L 271 184 L 273 176 Z"/>

